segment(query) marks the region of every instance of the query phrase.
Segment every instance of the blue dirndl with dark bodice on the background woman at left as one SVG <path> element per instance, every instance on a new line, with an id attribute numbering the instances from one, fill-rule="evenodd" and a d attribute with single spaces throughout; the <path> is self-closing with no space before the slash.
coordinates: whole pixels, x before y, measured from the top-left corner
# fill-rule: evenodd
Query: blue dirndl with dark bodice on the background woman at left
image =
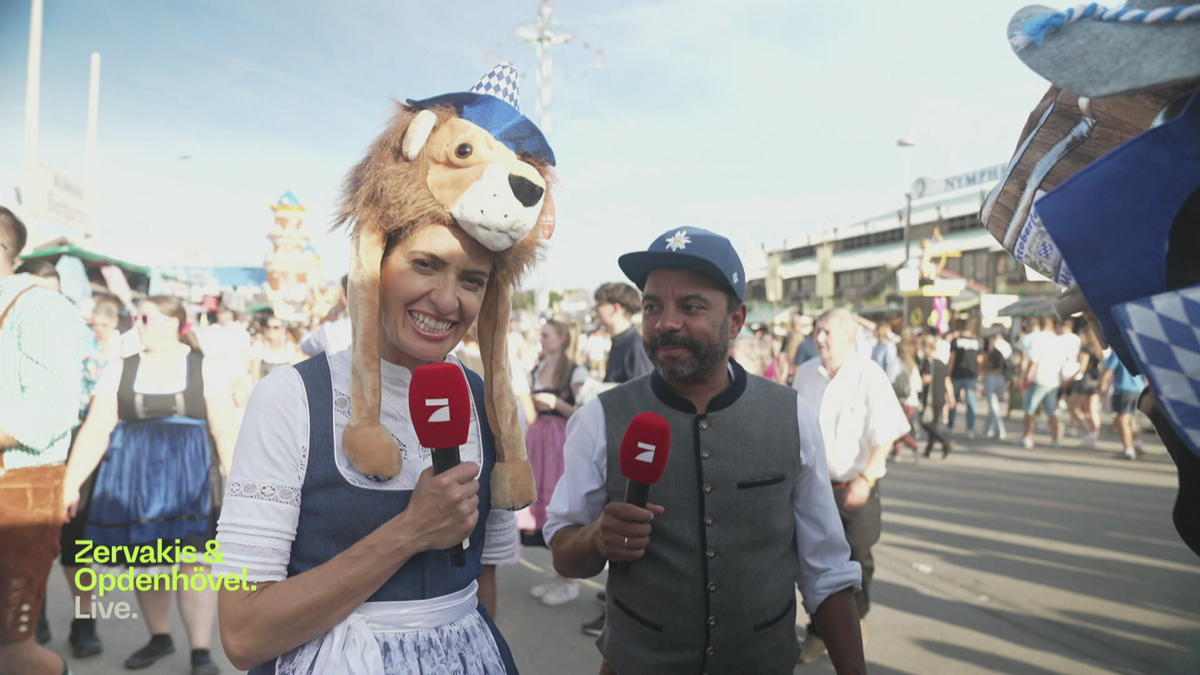
<path id="1" fill-rule="evenodd" d="M 125 359 L 120 422 L 96 471 L 84 534 L 96 545 L 204 545 L 216 536 L 223 485 L 204 404 L 203 356 L 187 356 L 187 387 L 175 394 L 133 390 L 142 359 Z M 138 561 L 114 561 L 133 565 Z"/>

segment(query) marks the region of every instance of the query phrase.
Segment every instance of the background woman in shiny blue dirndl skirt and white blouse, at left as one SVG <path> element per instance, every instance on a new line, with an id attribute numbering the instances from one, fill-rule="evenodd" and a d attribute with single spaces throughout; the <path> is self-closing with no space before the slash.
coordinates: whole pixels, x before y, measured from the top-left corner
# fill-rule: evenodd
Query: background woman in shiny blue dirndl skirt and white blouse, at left
<path id="1" fill-rule="evenodd" d="M 84 537 L 95 546 L 145 546 L 155 556 L 160 549 L 191 545 L 194 563 L 156 562 L 178 565 L 188 577 L 199 567 L 206 575 L 203 556 L 215 539 L 222 468 L 229 466 L 230 436 L 236 434 L 230 384 L 205 368 L 180 299 L 146 299 L 137 327 L 145 348 L 104 369 L 76 440 L 65 483 L 67 513 L 74 514 L 79 488 L 98 464 Z M 142 573 L 151 567 L 128 554 L 110 563 Z M 176 597 L 192 646 L 192 674 L 212 675 L 216 591 L 179 587 Z M 138 602 L 151 639 L 125 662 L 131 669 L 175 651 L 172 591 L 139 590 Z"/>

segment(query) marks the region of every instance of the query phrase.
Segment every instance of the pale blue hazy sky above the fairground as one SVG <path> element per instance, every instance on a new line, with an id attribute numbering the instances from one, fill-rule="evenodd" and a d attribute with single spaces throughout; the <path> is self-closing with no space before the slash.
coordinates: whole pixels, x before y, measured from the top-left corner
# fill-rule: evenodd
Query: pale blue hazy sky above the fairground
<path id="1" fill-rule="evenodd" d="M 706 227 L 745 250 L 899 208 L 904 136 L 918 143 L 912 178 L 1006 161 L 1048 86 L 1004 40 L 1024 5 L 557 1 L 575 40 L 552 50 L 559 225 L 545 281 L 622 279 L 617 256 L 668 228 Z M 330 214 L 391 100 L 464 90 L 509 60 L 534 117 L 533 47 L 512 30 L 535 11 L 533 0 L 47 0 L 40 156 L 84 178 L 100 52 L 98 237 L 114 253 L 154 264 L 194 249 L 260 264 L 268 204 L 290 189 L 326 270 L 341 274 L 349 247 L 325 233 Z M 0 2 L 10 205 L 29 12 L 28 0 Z"/>

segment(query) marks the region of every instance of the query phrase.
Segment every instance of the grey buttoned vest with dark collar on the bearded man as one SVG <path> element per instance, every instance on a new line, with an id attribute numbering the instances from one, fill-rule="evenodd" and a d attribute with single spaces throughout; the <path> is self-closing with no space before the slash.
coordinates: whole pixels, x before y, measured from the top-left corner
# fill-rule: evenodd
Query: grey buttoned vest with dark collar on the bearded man
<path id="1" fill-rule="evenodd" d="M 796 665 L 796 392 L 748 377 L 696 414 L 658 371 L 600 394 L 610 502 L 625 500 L 620 440 L 634 416 L 671 424 L 671 454 L 649 501 L 646 556 L 610 571 L 598 643 L 619 675 L 788 675 Z"/>

